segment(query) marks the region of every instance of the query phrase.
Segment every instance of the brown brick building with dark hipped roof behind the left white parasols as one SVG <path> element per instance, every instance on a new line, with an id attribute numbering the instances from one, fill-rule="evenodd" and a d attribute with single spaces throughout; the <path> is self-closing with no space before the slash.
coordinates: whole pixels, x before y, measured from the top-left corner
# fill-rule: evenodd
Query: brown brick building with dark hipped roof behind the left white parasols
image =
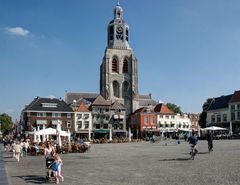
<path id="1" fill-rule="evenodd" d="M 73 115 L 62 99 L 37 97 L 21 112 L 21 132 L 28 136 L 34 130 L 56 128 L 59 122 L 62 130 L 73 131 Z"/>

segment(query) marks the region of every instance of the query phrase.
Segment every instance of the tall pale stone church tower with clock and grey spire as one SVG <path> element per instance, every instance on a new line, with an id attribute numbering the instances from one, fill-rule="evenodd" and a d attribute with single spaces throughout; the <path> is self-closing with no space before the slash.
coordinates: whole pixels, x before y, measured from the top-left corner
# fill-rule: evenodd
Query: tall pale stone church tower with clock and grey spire
<path id="1" fill-rule="evenodd" d="M 129 45 L 129 26 L 123 9 L 116 5 L 114 19 L 108 24 L 107 47 L 100 66 L 100 93 L 112 102 L 118 101 L 129 115 L 138 108 L 137 58 Z"/>

